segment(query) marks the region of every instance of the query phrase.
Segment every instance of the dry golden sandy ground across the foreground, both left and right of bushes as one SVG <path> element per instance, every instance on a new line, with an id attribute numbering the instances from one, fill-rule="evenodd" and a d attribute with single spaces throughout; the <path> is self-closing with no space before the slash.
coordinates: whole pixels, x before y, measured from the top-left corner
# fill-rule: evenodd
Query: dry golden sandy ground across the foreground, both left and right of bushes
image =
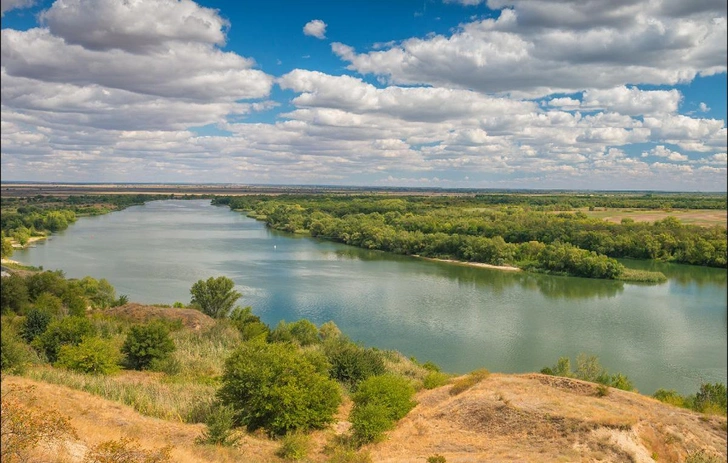
<path id="1" fill-rule="evenodd" d="M 87 448 L 104 440 L 132 437 L 142 447 L 172 445 L 175 462 L 269 462 L 279 443 L 246 436 L 239 448 L 202 447 L 194 439 L 202 425 L 141 416 L 131 408 L 90 394 L 8 376 L 3 387 L 34 385 L 40 409 L 71 417 L 78 439 L 58 446 L 54 458 L 82 461 Z M 417 395 L 419 405 L 388 438 L 367 446 L 374 462 L 425 462 L 435 454 L 454 462 L 683 462 L 703 451 L 726 460 L 726 418 L 660 403 L 636 393 L 540 374 L 493 374 L 459 395 L 450 386 Z M 324 444 L 346 429 L 340 422 L 314 435 L 309 461 L 323 462 Z M 47 454 L 46 454 L 47 457 Z"/>

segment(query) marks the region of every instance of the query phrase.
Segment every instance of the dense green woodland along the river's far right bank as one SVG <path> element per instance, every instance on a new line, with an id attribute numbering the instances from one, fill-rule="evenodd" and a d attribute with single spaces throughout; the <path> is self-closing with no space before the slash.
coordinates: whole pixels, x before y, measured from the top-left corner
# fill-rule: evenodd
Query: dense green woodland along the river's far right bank
<path id="1" fill-rule="evenodd" d="M 615 258 L 726 267 L 726 228 L 684 225 L 674 217 L 654 223 L 609 223 L 571 212 L 577 206 L 700 204 L 725 208 L 725 197 L 575 196 L 244 196 L 213 204 L 246 211 L 268 226 L 366 249 L 454 259 L 524 270 L 642 282 L 660 272 L 625 268 Z M 682 199 L 681 199 L 682 198 Z"/>

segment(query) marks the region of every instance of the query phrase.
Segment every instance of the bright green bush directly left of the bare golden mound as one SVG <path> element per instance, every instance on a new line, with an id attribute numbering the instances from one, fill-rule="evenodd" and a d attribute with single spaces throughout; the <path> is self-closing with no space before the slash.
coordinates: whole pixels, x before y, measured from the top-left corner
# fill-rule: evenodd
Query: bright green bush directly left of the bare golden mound
<path id="1" fill-rule="evenodd" d="M 362 381 L 352 397 L 354 439 L 360 444 L 378 440 L 416 405 L 414 394 L 409 381 L 399 376 L 372 376 Z"/>

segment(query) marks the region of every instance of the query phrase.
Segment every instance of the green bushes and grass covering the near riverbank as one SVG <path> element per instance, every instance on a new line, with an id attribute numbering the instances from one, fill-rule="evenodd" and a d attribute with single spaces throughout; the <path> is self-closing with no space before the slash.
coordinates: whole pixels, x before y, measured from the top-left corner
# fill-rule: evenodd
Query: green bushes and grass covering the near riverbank
<path id="1" fill-rule="evenodd" d="M 240 294 L 225 277 L 193 285 L 190 307 L 215 316 L 196 329 L 184 319 L 140 323 L 111 315 L 126 301 L 102 281 L 67 280 L 62 272 L 49 271 L 2 278 L 3 377 L 24 375 L 118 401 L 145 415 L 205 423 L 197 440 L 203 446 L 235 445 L 245 435 L 242 429 L 262 432 L 279 439 L 278 455 L 288 460 L 305 458 L 311 431 L 333 423 L 346 402 L 352 405 L 351 429 L 326 446 L 330 461 L 340 462 L 370 461 L 360 447 L 380 441 L 408 414 L 416 390 L 452 382 L 450 394 L 458 395 L 489 377 L 487 370 L 477 370 L 453 380 L 430 362 L 360 346 L 333 322 L 317 327 L 305 319 L 281 321 L 270 328 L 251 308 L 233 307 Z M 562 358 L 543 373 L 600 383 L 598 396 L 608 395 L 610 387 L 632 389 L 628 378 L 608 374 L 595 357 L 582 355 L 576 363 L 572 371 L 569 359 Z M 125 374 L 133 370 L 149 376 L 140 381 Z M 11 388 L 6 394 L 5 389 L 3 461 L 22 461 L 38 442 L 73 436 L 61 416 L 37 416 L 31 426 L 21 426 L 17 417 L 29 391 Z M 654 397 L 703 413 L 726 413 L 724 384 L 703 384 L 689 397 L 661 389 Z M 22 445 L 19 433 L 27 434 Z M 125 455 L 131 457 L 123 460 Z M 162 462 L 169 455 L 168 448 L 140 451 L 122 439 L 90 449 L 87 461 Z"/>

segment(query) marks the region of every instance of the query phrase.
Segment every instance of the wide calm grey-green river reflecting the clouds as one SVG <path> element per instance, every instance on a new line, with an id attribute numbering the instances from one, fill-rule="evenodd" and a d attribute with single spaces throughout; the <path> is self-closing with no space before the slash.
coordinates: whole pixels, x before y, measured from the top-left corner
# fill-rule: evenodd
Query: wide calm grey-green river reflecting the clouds
<path id="1" fill-rule="evenodd" d="M 646 394 L 726 382 L 721 269 L 625 262 L 669 278 L 645 286 L 471 268 L 272 231 L 203 200 L 82 218 L 13 258 L 143 303 L 188 303 L 194 282 L 225 275 L 266 323 L 333 320 L 449 372 L 538 371 L 585 352 Z"/>

